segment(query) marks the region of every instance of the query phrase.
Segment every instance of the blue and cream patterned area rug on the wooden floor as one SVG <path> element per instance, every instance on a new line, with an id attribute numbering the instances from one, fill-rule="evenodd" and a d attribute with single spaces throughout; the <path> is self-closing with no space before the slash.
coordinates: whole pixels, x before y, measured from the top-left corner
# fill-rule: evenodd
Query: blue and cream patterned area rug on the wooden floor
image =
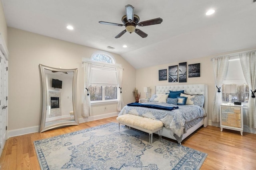
<path id="1" fill-rule="evenodd" d="M 34 141 L 42 170 L 197 170 L 207 154 L 108 123 Z"/>

